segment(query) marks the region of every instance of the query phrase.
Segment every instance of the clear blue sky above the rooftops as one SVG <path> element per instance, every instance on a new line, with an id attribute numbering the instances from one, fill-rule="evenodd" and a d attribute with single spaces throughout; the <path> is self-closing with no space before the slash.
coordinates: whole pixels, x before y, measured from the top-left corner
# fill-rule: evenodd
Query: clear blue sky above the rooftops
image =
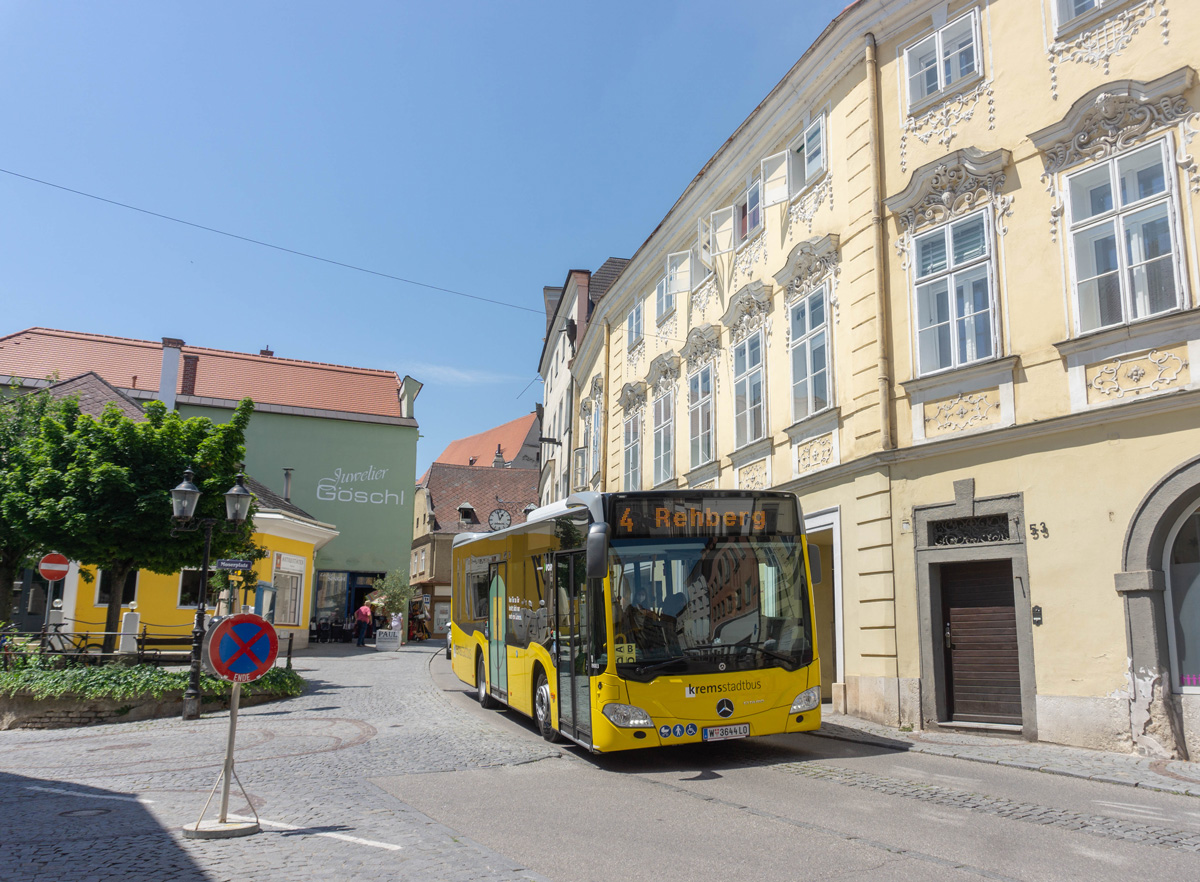
<path id="1" fill-rule="evenodd" d="M 0 334 L 409 373 L 420 474 L 534 408 L 542 286 L 632 256 L 845 4 L 6 0 Z"/>

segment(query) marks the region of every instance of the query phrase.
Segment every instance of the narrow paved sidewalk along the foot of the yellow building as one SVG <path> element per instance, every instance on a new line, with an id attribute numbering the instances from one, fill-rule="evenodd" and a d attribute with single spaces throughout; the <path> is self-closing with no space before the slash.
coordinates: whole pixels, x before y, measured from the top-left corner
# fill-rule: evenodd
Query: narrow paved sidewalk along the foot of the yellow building
<path id="1" fill-rule="evenodd" d="M 1156 760 L 1133 754 L 1110 754 L 960 732 L 901 732 L 890 726 L 828 710 L 822 712 L 821 730 L 812 734 L 892 750 L 953 756 L 971 762 L 1200 797 L 1200 763 L 1181 760 Z"/>

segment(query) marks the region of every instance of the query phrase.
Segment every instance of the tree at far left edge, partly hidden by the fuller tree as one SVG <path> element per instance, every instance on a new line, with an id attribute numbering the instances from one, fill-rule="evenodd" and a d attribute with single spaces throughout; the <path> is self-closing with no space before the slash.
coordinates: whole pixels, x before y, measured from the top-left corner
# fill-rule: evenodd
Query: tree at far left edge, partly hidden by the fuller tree
<path id="1" fill-rule="evenodd" d="M 12 584 L 38 551 L 36 538 L 22 518 L 4 515 L 6 475 L 23 472 L 30 452 L 30 440 L 42 425 L 42 418 L 61 418 L 71 407 L 70 398 L 60 400 L 48 391 L 20 395 L 19 388 L 10 389 L 11 398 L 0 401 L 0 624 L 12 614 Z"/>

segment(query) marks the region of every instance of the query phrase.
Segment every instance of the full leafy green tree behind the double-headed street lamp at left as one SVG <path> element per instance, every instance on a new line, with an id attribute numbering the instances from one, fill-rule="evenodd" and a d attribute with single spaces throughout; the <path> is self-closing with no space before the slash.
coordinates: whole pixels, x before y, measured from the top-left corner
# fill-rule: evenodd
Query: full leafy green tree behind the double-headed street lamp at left
<path id="1" fill-rule="evenodd" d="M 196 517 L 214 517 L 212 557 L 226 557 L 248 542 L 251 518 L 224 533 L 224 492 L 245 456 L 246 427 L 254 403 L 242 400 L 229 422 L 182 419 L 158 401 L 146 404 L 145 420 L 115 406 L 97 420 L 68 406 L 62 419 L 46 416 L 29 442 L 20 468 L 6 475 L 4 517 L 13 518 L 42 547 L 108 571 L 125 584 L 132 570 L 169 575 L 200 562 L 204 532 L 172 535 L 170 488 L 191 468 L 200 488 Z M 252 509 L 253 511 L 253 509 Z M 104 652 L 120 626 L 121 592 L 108 600 Z"/>

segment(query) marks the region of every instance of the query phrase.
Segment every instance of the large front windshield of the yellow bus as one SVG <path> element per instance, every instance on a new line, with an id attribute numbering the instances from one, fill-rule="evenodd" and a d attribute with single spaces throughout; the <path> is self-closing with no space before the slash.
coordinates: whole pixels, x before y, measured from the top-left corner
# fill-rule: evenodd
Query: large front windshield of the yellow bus
<path id="1" fill-rule="evenodd" d="M 794 671 L 812 661 L 804 557 L 788 536 L 613 540 L 618 673 Z"/>

